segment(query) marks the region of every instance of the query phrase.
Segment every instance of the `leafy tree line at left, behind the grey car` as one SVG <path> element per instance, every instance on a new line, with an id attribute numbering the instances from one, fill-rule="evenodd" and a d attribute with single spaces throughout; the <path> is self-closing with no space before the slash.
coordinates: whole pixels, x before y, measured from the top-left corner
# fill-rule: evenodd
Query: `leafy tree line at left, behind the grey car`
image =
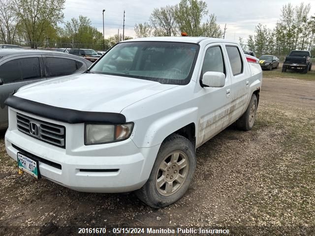
<path id="1" fill-rule="evenodd" d="M 31 48 L 94 45 L 102 49 L 103 35 L 88 17 L 63 21 L 64 4 L 65 0 L 0 0 L 0 42 L 26 42 Z M 105 39 L 105 48 L 120 40 L 118 35 Z"/>

